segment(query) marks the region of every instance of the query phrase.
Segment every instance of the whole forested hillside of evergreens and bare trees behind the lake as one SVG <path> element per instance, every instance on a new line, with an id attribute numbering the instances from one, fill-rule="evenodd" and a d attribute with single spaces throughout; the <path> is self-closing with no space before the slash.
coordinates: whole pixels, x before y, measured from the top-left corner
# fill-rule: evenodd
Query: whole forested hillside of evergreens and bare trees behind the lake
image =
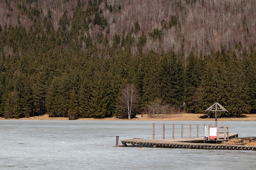
<path id="1" fill-rule="evenodd" d="M 254 0 L 0 0 L 0 116 L 256 113 Z M 162 108 L 162 109 L 159 109 Z"/>

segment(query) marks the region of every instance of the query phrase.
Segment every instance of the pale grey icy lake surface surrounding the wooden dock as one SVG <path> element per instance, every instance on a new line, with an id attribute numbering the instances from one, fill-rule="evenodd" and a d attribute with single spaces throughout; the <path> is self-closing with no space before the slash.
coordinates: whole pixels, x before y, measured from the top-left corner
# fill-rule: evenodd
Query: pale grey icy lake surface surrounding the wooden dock
<path id="1" fill-rule="evenodd" d="M 256 167 L 256 151 L 196 150 L 142 147 L 115 147 L 120 140 L 134 137 L 162 138 L 165 123 L 166 139 L 180 137 L 184 124 L 184 138 L 203 136 L 204 121 L 47 121 L 0 120 L 0 170 L 86 170 L 120 169 L 150 170 L 178 169 L 240 170 Z M 220 122 L 219 122 L 220 124 Z M 230 133 L 239 137 L 255 137 L 256 122 L 228 121 Z M 121 143 L 120 143 L 121 145 Z"/>

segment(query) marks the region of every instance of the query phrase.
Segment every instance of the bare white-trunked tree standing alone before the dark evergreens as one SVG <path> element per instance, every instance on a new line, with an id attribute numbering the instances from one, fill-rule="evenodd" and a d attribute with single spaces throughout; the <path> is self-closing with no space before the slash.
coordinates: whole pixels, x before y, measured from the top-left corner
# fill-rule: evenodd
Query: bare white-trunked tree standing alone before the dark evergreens
<path id="1" fill-rule="evenodd" d="M 140 97 L 134 84 L 127 84 L 121 92 L 120 106 L 124 113 L 128 114 L 128 119 L 131 119 L 131 113 L 138 107 Z"/>

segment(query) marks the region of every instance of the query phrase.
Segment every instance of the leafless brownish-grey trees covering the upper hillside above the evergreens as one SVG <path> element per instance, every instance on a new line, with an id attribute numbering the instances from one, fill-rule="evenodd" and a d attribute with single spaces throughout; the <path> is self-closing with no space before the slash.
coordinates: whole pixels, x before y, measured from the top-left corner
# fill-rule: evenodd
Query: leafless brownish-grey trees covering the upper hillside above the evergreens
<path id="1" fill-rule="evenodd" d="M 80 0 L 81 8 L 85 10 L 91 1 L 93 0 Z M 38 9 L 37 16 L 41 20 L 50 10 L 53 26 L 57 30 L 66 10 L 68 19 L 73 18 L 78 1 L 37 0 L 31 2 L 31 4 L 24 5 L 22 0 L 0 0 L 2 27 L 9 24 L 17 25 L 18 15 L 20 23 L 27 30 L 33 26 L 33 20 L 28 18 L 23 10 L 18 9 L 18 5 L 23 5 L 27 9 Z M 144 52 L 170 49 L 178 52 L 182 49 L 187 56 L 193 49 L 198 55 L 200 53 L 207 55 L 221 46 L 239 51 L 242 46 L 249 49 L 256 43 L 255 0 L 97 0 L 96 2 L 102 10 L 102 16 L 109 24 L 108 42 L 110 45 L 113 44 L 116 33 L 120 37 L 122 34 L 127 35 L 135 29 L 138 23 L 138 33 L 131 34 L 134 38 L 134 43 L 130 47 L 133 54 L 138 51 L 136 44 L 143 32 L 147 37 L 147 42 L 143 47 Z M 93 41 L 96 41 L 98 33 L 102 32 L 105 35 L 108 28 L 90 24 L 89 29 L 90 36 Z M 162 31 L 160 39 L 150 36 L 150 33 L 154 33 L 154 29 Z"/>

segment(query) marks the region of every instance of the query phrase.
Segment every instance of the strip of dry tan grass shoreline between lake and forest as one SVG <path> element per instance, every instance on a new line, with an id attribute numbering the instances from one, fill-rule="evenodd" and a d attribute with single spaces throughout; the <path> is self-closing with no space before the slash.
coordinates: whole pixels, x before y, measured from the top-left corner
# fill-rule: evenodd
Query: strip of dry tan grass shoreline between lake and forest
<path id="1" fill-rule="evenodd" d="M 205 118 L 202 119 L 200 116 L 204 114 L 195 113 L 182 113 L 178 115 L 159 115 L 158 117 L 148 117 L 148 115 L 137 115 L 135 118 L 130 119 L 130 121 L 215 121 L 215 118 Z M 245 117 L 223 117 L 218 118 L 218 121 L 256 121 L 256 114 L 244 114 Z M 0 120 L 68 120 L 68 117 L 49 117 L 48 115 L 40 115 L 34 117 L 24 117 L 20 119 L 5 119 L 0 117 Z M 126 121 L 128 119 L 118 119 L 116 117 L 108 117 L 103 119 L 94 118 L 81 118 L 76 120 L 106 120 L 106 121 Z"/>

